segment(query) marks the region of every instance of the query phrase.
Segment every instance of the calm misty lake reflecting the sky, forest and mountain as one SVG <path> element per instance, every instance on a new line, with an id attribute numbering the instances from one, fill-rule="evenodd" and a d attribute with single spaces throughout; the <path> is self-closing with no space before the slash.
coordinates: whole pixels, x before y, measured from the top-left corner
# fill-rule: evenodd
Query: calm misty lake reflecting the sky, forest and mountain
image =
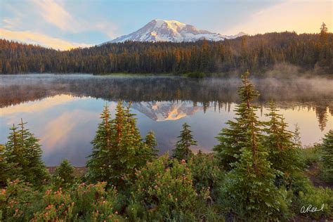
<path id="1" fill-rule="evenodd" d="M 320 142 L 333 128 L 333 80 L 306 78 L 252 79 L 261 96 L 257 115 L 266 120 L 267 103 L 275 100 L 303 145 Z M 184 122 L 190 124 L 199 149 L 209 152 L 215 136 L 235 117 L 237 78 L 93 76 L 91 74 L 0 75 L 0 143 L 20 118 L 40 139 L 47 166 L 69 159 L 84 166 L 103 105 L 112 117 L 118 100 L 131 102 L 143 136 L 155 131 L 162 154 L 172 150 Z"/>

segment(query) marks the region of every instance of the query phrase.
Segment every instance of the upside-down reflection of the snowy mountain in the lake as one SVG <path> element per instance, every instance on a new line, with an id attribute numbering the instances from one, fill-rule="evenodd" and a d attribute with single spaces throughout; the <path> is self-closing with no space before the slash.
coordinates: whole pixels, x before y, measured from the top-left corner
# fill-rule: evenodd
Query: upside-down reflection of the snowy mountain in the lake
<path id="1" fill-rule="evenodd" d="M 192 103 L 170 101 L 133 103 L 132 108 L 157 122 L 178 120 L 203 109 L 200 106 L 194 107 Z"/>

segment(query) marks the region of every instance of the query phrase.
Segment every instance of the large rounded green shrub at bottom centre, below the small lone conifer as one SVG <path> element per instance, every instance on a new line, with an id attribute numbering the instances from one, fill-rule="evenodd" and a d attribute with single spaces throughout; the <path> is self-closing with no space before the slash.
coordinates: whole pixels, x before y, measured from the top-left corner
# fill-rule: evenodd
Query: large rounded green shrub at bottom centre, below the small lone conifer
<path id="1" fill-rule="evenodd" d="M 207 215 L 209 190 L 196 192 L 185 161 L 164 155 L 136 171 L 136 178 L 126 209 L 131 220 L 194 221 Z"/>

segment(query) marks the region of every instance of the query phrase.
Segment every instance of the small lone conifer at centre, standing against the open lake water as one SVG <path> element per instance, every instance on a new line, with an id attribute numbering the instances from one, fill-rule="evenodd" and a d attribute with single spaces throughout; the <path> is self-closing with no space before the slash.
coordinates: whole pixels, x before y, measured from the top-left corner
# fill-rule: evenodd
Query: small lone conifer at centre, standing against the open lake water
<path id="1" fill-rule="evenodd" d="M 173 150 L 173 157 L 186 161 L 192 157 L 193 152 L 190 150 L 191 145 L 197 145 L 197 141 L 193 140 L 192 131 L 189 129 L 190 126 L 187 123 L 183 124 L 183 130 L 181 135 L 178 136 L 180 140 L 176 143 L 176 148 Z"/>

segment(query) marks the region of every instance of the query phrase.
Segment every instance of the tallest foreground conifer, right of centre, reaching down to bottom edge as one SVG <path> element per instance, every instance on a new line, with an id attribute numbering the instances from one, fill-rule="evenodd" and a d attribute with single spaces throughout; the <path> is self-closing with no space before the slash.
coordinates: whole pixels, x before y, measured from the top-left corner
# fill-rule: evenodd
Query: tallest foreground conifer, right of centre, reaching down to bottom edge
<path id="1" fill-rule="evenodd" d="M 285 200 L 274 185 L 275 170 L 270 168 L 267 160 L 268 152 L 263 146 L 260 129 L 262 123 L 256 117 L 256 107 L 252 104 L 258 93 L 249 83 L 248 75 L 249 72 L 242 75 L 243 86 L 239 89 L 241 103 L 237 107 L 237 122 L 230 124 L 233 129 L 242 129 L 244 126 L 246 128 L 244 131 L 237 131 L 240 136 L 233 130 L 229 131 L 231 134 L 223 131 L 220 136 L 221 141 L 237 141 L 235 147 L 239 148 L 235 161 L 228 163 L 232 169 L 226 175 L 225 187 L 222 188 L 223 199 L 238 217 L 249 221 L 265 221 L 279 218 Z M 224 140 L 223 136 L 228 140 Z M 230 145 L 235 143 L 225 144 L 231 149 L 233 146 Z"/>

